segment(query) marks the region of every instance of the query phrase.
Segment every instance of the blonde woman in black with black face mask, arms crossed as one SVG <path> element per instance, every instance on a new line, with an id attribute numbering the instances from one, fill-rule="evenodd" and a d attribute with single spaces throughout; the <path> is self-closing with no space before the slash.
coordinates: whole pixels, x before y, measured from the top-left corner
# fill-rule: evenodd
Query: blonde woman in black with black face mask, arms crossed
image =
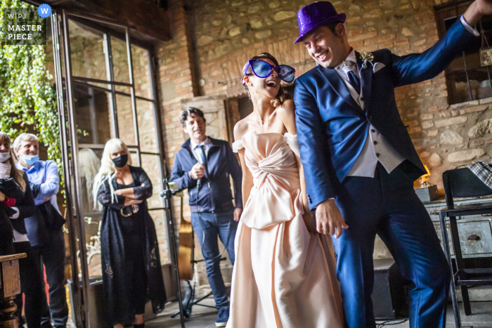
<path id="1" fill-rule="evenodd" d="M 154 313 L 164 309 L 166 293 L 159 245 L 146 199 L 152 184 L 143 169 L 131 166 L 127 145 L 117 138 L 106 143 L 94 178 L 94 204 L 103 205 L 101 264 L 105 318 L 123 328 L 143 328 L 145 302 Z"/>

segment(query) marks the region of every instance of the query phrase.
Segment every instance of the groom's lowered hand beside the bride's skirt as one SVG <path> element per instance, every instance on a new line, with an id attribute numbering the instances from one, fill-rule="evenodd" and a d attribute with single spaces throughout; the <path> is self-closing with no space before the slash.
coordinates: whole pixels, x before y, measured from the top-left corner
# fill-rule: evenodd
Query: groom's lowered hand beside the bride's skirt
<path id="1" fill-rule="evenodd" d="M 325 235 L 342 235 L 342 228 L 349 228 L 342 213 L 335 204 L 335 199 L 327 199 L 316 206 L 316 230 Z"/>

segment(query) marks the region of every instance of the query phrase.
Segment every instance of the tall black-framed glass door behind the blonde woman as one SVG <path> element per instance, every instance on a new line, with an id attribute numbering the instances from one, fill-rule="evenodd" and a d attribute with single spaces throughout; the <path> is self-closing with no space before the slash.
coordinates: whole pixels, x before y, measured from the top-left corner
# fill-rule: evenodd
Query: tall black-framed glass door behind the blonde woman
<path id="1" fill-rule="evenodd" d="M 94 281 L 101 276 L 98 239 L 101 211 L 92 197 L 93 178 L 107 140 L 120 138 L 132 165 L 153 183 L 148 208 L 157 231 L 161 264 L 171 263 L 169 227 L 160 198 L 166 176 L 152 47 L 132 41 L 128 27 L 61 11 L 51 15 L 53 59 L 72 258 L 72 310 L 78 327 L 96 327 Z M 110 26 L 110 28 L 108 28 Z M 75 256 L 77 253 L 77 256 Z M 89 313 L 92 313 L 89 315 Z"/>

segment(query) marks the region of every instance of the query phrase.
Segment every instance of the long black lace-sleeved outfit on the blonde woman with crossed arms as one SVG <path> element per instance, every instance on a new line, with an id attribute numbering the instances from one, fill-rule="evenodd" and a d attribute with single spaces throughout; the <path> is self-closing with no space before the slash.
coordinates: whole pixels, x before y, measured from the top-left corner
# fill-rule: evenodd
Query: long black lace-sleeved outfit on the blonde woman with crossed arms
<path id="1" fill-rule="evenodd" d="M 130 166 L 130 172 L 136 186 L 134 195 L 143 200 L 136 213 L 132 206 L 124 206 L 124 197 L 111 193 L 109 178 L 104 179 L 98 191 L 98 201 L 103 204 L 104 312 L 110 325 L 134 322 L 135 314 L 143 313 L 138 308 L 145 304 L 143 299 L 152 301 L 154 313 L 163 310 L 166 303 L 155 225 L 145 202 L 152 195 L 152 183 L 143 169 Z M 118 185 L 115 178 L 111 183 L 114 190 L 130 187 Z M 134 288 L 134 284 L 141 285 Z M 142 288 L 145 290 L 143 296 Z"/>

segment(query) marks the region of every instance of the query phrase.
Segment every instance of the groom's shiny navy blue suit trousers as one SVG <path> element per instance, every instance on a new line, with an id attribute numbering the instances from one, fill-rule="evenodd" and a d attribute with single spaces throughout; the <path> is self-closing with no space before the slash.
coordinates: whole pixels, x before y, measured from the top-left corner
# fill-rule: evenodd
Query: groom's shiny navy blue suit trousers
<path id="1" fill-rule="evenodd" d="M 376 234 L 410 285 L 410 328 L 446 326 L 451 275 L 434 225 L 415 195 L 403 162 L 391 173 L 377 165 L 374 178 L 347 176 L 335 202 L 349 225 L 333 238 L 349 328 L 375 328 L 373 251 Z"/>

